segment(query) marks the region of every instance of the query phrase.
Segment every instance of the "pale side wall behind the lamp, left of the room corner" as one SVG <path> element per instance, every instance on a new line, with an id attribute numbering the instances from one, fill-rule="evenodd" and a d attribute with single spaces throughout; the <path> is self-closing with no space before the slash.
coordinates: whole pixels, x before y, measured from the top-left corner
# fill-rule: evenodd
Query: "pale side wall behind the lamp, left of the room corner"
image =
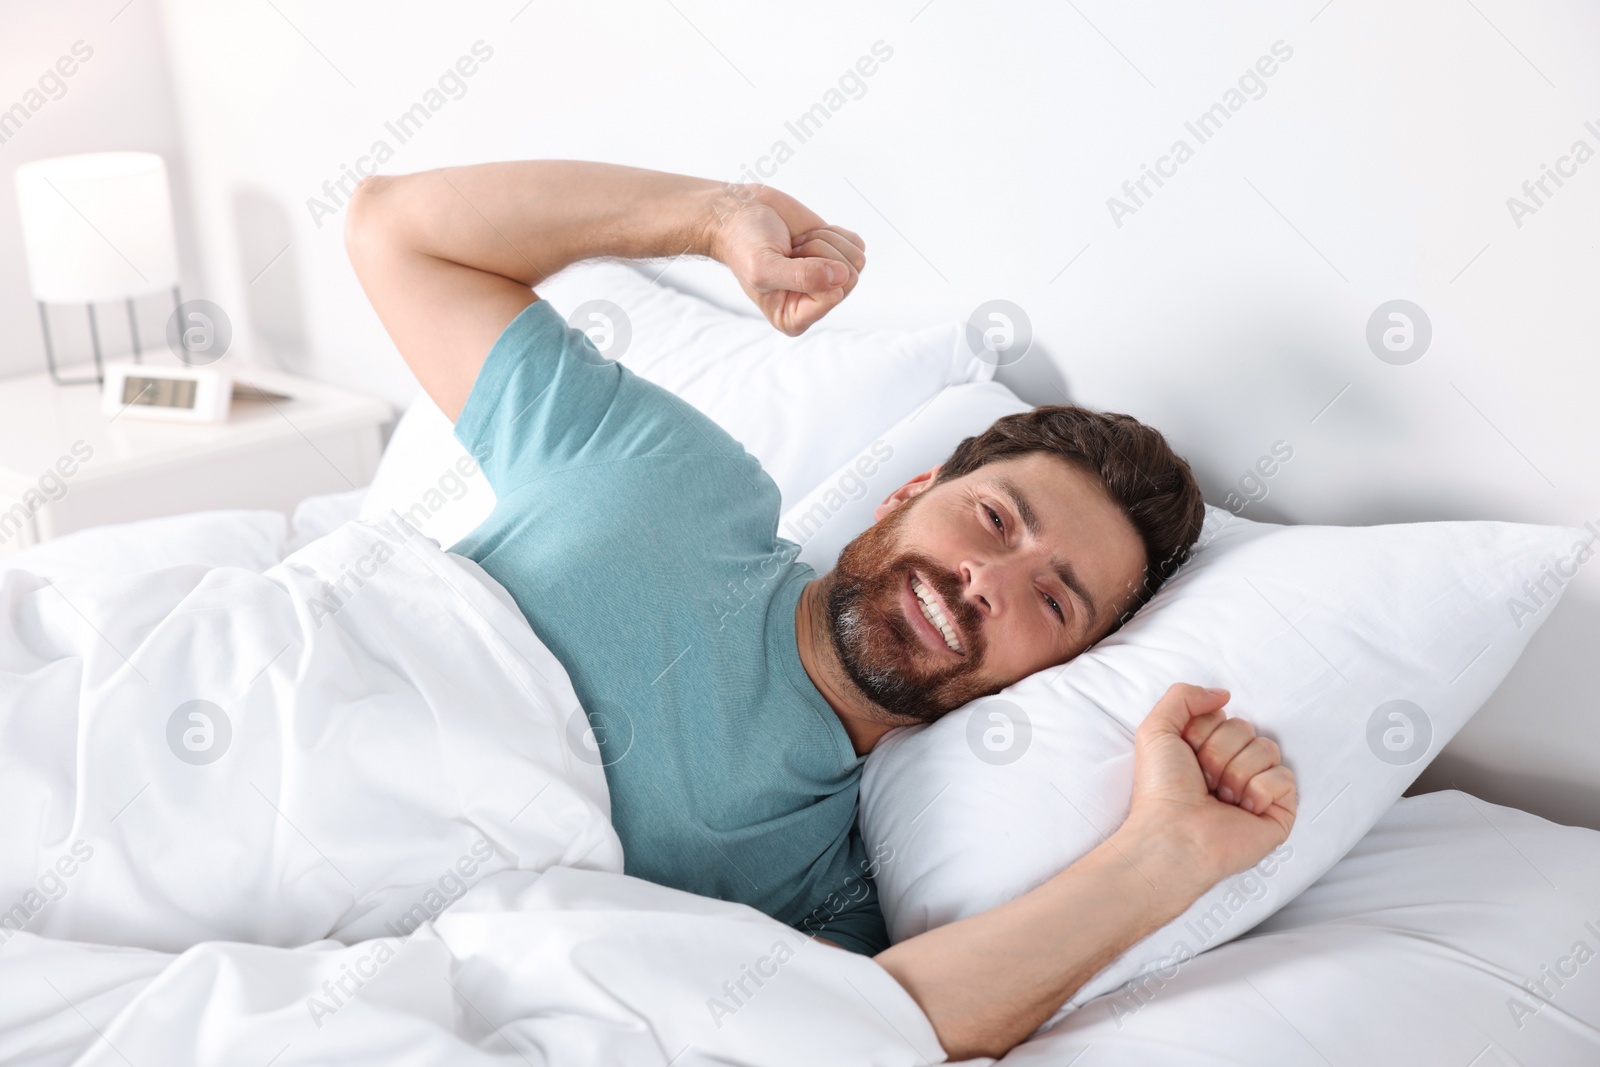
<path id="1" fill-rule="evenodd" d="M 176 203 L 179 262 L 187 296 L 205 296 L 205 272 L 186 211 L 187 166 L 166 72 L 162 10 L 155 3 L 6 3 L 0 6 L 0 378 L 45 370 L 38 306 L 29 296 L 21 219 L 13 174 L 19 163 L 75 152 L 139 150 L 166 160 Z M 88 59 L 67 64 L 74 45 Z M 40 86 L 40 77 L 45 85 Z M 136 304 L 139 336 L 162 344 L 170 296 Z M 64 360 L 90 358 L 88 320 L 82 309 L 53 309 L 53 334 Z M 128 317 L 120 306 L 101 307 L 107 355 L 130 350 Z"/>

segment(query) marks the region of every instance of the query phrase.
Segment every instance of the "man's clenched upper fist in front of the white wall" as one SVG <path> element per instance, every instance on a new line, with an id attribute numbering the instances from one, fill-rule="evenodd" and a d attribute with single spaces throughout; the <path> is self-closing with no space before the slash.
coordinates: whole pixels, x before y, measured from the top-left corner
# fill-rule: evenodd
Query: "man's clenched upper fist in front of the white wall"
<path id="1" fill-rule="evenodd" d="M 734 186 L 714 210 L 706 245 L 766 320 L 790 338 L 850 296 L 866 242 L 768 186 Z"/>

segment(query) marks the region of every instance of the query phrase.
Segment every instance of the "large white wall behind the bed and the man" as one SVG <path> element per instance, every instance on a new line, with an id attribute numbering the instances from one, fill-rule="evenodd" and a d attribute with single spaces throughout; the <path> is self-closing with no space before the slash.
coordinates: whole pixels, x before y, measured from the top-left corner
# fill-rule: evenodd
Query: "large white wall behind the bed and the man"
<path id="1" fill-rule="evenodd" d="M 1246 517 L 1600 523 L 1600 158 L 1520 226 L 1507 210 L 1574 141 L 1600 150 L 1590 3 L 166 11 L 213 299 L 254 320 L 261 358 L 410 395 L 344 261 L 342 213 L 318 227 L 307 206 L 378 139 L 386 171 L 581 157 L 715 178 L 784 139 L 771 182 L 869 242 L 835 322 L 1011 299 L 1038 341 L 1002 378 L 1160 426 L 1211 502 L 1282 440 L 1294 458 Z M 478 40 L 493 58 L 466 94 L 398 144 L 386 120 Z M 866 93 L 798 144 L 784 123 L 875 42 L 893 56 Z M 1293 56 L 1198 144 L 1184 123 L 1275 42 Z M 1118 226 L 1107 198 L 1178 138 L 1194 158 Z M 709 266 L 667 280 L 736 299 Z M 1395 298 L 1432 320 L 1410 366 L 1365 341 Z M 1597 638 L 1590 563 L 1424 784 L 1600 825 Z"/>

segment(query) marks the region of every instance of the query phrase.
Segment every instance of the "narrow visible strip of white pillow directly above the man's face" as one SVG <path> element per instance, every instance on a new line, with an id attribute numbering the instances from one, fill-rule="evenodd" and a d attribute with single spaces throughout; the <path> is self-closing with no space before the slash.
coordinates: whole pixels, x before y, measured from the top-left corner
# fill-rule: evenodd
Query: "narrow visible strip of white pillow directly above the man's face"
<path id="1" fill-rule="evenodd" d="M 798 544 L 800 561 L 826 574 L 851 537 L 872 525 L 872 512 L 883 498 L 949 459 L 963 437 L 1030 408 L 1000 382 L 947 387 L 784 512 L 778 536 Z"/>

